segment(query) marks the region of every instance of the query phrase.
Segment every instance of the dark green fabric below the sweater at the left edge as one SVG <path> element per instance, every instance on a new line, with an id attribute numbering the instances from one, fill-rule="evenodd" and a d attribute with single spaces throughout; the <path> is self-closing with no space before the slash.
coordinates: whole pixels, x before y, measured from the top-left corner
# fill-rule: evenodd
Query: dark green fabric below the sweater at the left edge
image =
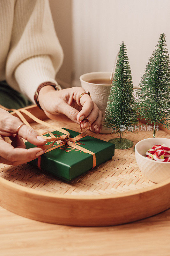
<path id="1" fill-rule="evenodd" d="M 6 108 L 24 108 L 33 103 L 22 93 L 12 89 L 6 81 L 0 81 L 0 104 Z"/>

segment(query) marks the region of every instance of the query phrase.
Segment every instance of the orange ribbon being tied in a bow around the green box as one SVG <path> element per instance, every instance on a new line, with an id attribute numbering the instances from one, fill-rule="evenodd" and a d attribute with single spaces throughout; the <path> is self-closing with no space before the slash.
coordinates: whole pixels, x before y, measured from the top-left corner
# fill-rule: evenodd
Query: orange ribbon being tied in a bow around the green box
<path id="1" fill-rule="evenodd" d="M 20 109 L 18 109 L 18 110 L 17 110 L 17 109 L 13 109 L 13 108 L 9 109 L 9 108 L 5 108 L 5 107 L 3 107 L 3 106 L 1 106 L 1 105 L 0 105 L 0 108 L 3 108 L 3 109 L 5 109 L 5 110 L 7 110 L 7 111 L 13 111 L 13 112 L 15 112 L 15 113 L 18 115 L 18 117 L 23 121 L 23 123 L 26 124 L 26 125 L 28 125 L 29 127 L 31 127 L 31 125 L 26 121 L 25 117 L 21 114 L 21 112 L 24 113 L 24 114 L 26 114 L 27 116 L 29 116 L 29 117 L 30 117 L 31 119 L 33 119 L 36 123 L 43 124 L 44 126 L 47 126 L 47 127 L 49 127 L 49 128 L 52 128 L 52 129 L 55 129 L 56 131 L 62 132 L 62 133 L 65 134 L 65 135 L 61 135 L 61 136 L 59 136 L 59 137 L 56 138 L 52 132 L 47 132 L 47 133 L 49 133 L 49 135 L 50 135 L 51 137 L 43 136 L 43 138 L 46 139 L 46 143 L 47 143 L 47 142 L 52 142 L 52 141 L 53 141 L 53 143 L 51 143 L 51 144 L 49 144 L 49 145 L 39 146 L 39 148 L 47 149 L 47 152 L 49 152 L 49 151 L 51 151 L 51 150 L 54 150 L 54 149 L 56 149 L 56 148 L 59 148 L 59 147 L 61 147 L 61 146 L 67 144 L 67 145 L 69 145 L 69 146 L 72 147 L 72 148 L 76 148 L 76 149 L 79 149 L 79 150 L 81 150 L 81 151 L 83 151 L 83 152 L 85 152 L 85 153 L 91 154 L 92 157 L 93 157 L 93 168 L 96 166 L 96 156 L 95 156 L 95 153 L 92 152 L 92 151 L 90 151 L 90 150 L 88 150 L 88 149 L 86 149 L 86 148 L 80 147 L 79 145 L 75 144 L 75 142 L 77 142 L 77 141 L 79 141 L 80 139 L 82 139 L 83 137 L 85 137 L 86 134 L 87 134 L 87 132 L 89 131 L 90 126 L 91 126 L 91 122 L 90 122 L 90 120 L 89 120 L 88 118 L 85 118 L 85 119 L 88 120 L 88 122 L 89 122 L 89 125 L 88 125 L 87 129 L 86 129 L 84 132 L 82 132 L 81 123 L 82 123 L 83 120 L 85 120 L 85 119 L 83 119 L 83 120 L 80 122 L 80 130 L 81 130 L 81 133 L 78 134 L 78 135 L 77 135 L 76 137 L 74 137 L 74 138 L 70 138 L 70 133 L 69 133 L 68 131 L 66 131 L 66 130 L 64 130 L 64 129 L 58 127 L 58 126 L 55 126 L 55 125 L 52 125 L 52 124 L 48 124 L 48 123 L 46 123 L 46 122 L 44 122 L 44 121 L 38 119 L 36 116 L 34 116 L 33 114 L 31 114 L 30 112 L 28 112 L 28 111 L 27 111 L 26 109 L 24 109 L 24 108 L 20 108 Z M 47 133 L 46 133 L 46 134 L 47 134 Z M 43 134 L 42 134 L 42 135 L 43 135 Z M 54 145 L 54 143 L 55 143 L 56 141 L 59 141 L 59 143 L 60 143 L 60 144 L 57 145 L 57 146 Z M 54 147 L 53 147 L 53 146 L 54 146 Z M 46 153 L 47 153 L 47 152 L 46 152 Z M 37 164 L 37 166 L 38 166 L 39 169 L 41 169 L 41 156 L 38 157 L 38 164 Z"/>

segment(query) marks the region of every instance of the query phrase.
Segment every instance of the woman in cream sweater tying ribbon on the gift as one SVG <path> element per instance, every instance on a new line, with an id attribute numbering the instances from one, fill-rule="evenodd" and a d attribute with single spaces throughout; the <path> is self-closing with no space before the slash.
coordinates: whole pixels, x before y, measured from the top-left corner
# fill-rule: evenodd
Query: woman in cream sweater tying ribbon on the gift
<path id="1" fill-rule="evenodd" d="M 91 97 L 83 94 L 85 90 L 60 90 L 55 81 L 63 51 L 48 0 L 0 0 L 0 38 L 1 105 L 22 108 L 30 101 L 36 102 L 49 118 L 55 119 L 55 115 L 62 113 L 79 123 L 87 117 L 92 123 L 91 130 L 100 133 L 102 113 Z M 44 153 L 41 148 L 25 149 L 21 138 L 37 146 L 45 144 L 45 140 L 21 124 L 17 117 L 0 109 L 1 163 L 18 165 Z M 87 125 L 83 123 L 82 128 Z M 11 145 L 3 136 L 10 137 Z"/>

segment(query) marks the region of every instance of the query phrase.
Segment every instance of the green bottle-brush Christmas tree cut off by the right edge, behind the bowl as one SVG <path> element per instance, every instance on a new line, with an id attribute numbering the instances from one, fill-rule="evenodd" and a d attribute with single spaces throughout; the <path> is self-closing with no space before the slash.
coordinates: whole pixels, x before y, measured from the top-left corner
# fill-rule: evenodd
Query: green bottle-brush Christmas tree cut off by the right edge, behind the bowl
<path id="1" fill-rule="evenodd" d="M 168 128 L 170 120 L 170 61 L 165 46 L 165 34 L 162 33 L 137 90 L 139 117 L 154 125 L 153 137 L 156 125 Z"/>

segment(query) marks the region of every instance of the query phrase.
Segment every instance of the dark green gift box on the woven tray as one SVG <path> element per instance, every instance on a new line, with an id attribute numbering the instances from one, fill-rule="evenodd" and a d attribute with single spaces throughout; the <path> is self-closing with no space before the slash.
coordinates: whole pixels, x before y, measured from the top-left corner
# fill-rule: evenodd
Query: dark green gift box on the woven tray
<path id="1" fill-rule="evenodd" d="M 79 132 L 69 129 L 63 129 L 70 133 L 70 138 L 80 134 Z M 64 133 L 58 131 L 52 133 L 55 134 L 55 137 L 64 135 Z M 45 136 L 50 135 L 46 134 Z M 115 145 L 107 141 L 99 140 L 91 136 L 85 136 L 75 143 L 80 147 L 95 153 L 96 165 L 102 164 L 114 156 Z M 26 142 L 25 144 L 27 149 L 36 147 L 29 142 Z M 54 145 L 58 144 L 60 144 L 58 141 L 54 143 Z M 28 164 L 33 166 L 37 166 L 37 163 L 37 159 L 28 162 Z M 41 155 L 41 169 L 43 172 L 53 174 L 56 177 L 67 181 L 76 178 L 80 174 L 92 169 L 92 167 L 93 157 L 91 154 L 70 147 L 67 144 Z"/>

